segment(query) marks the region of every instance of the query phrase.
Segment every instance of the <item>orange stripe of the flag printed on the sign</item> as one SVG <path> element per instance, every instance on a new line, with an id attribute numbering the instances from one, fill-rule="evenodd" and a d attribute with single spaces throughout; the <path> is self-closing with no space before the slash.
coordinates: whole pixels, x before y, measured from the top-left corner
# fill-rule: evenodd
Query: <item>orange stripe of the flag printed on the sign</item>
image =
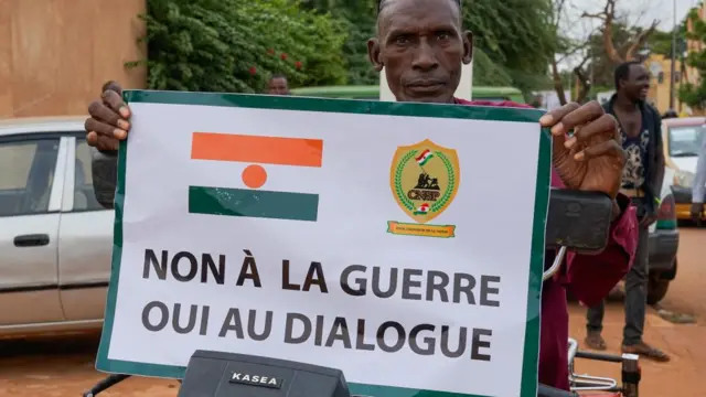
<path id="1" fill-rule="evenodd" d="M 194 132 L 191 140 L 194 160 L 321 167 L 322 151 L 320 139 Z"/>

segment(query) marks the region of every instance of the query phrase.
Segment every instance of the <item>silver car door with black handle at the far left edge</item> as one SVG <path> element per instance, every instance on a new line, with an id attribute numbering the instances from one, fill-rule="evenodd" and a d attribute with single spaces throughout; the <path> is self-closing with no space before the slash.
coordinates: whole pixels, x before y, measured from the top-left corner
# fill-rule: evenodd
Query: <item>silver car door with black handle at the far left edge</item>
<path id="1" fill-rule="evenodd" d="M 57 247 L 66 147 L 0 136 L 0 329 L 63 320 Z"/>

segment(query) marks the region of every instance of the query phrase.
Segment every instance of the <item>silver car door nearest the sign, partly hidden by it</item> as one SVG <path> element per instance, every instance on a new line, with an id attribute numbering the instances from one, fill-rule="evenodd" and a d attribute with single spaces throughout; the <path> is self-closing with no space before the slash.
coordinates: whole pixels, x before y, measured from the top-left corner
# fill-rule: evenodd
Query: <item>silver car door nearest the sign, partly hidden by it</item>
<path id="1" fill-rule="evenodd" d="M 75 133 L 66 140 L 69 161 L 58 227 L 60 296 L 66 320 L 103 320 L 110 278 L 114 211 L 96 201 L 90 151 L 84 136 Z"/>

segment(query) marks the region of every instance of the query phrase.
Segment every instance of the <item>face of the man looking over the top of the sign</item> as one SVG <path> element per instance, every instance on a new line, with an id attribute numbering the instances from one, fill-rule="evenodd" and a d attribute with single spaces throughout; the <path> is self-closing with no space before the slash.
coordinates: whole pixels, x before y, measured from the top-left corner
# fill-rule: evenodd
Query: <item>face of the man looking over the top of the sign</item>
<path id="1" fill-rule="evenodd" d="M 367 50 L 397 100 L 453 100 L 461 64 L 472 56 L 472 35 L 461 31 L 459 12 L 453 0 L 386 0 Z"/>

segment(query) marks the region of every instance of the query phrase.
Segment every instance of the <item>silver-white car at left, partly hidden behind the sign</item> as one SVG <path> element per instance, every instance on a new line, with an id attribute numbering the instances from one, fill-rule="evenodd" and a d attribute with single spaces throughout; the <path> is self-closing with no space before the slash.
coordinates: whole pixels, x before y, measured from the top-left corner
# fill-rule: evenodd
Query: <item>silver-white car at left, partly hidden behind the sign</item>
<path id="1" fill-rule="evenodd" d="M 94 195 L 84 120 L 0 121 L 0 337 L 103 324 L 114 212 Z"/>

